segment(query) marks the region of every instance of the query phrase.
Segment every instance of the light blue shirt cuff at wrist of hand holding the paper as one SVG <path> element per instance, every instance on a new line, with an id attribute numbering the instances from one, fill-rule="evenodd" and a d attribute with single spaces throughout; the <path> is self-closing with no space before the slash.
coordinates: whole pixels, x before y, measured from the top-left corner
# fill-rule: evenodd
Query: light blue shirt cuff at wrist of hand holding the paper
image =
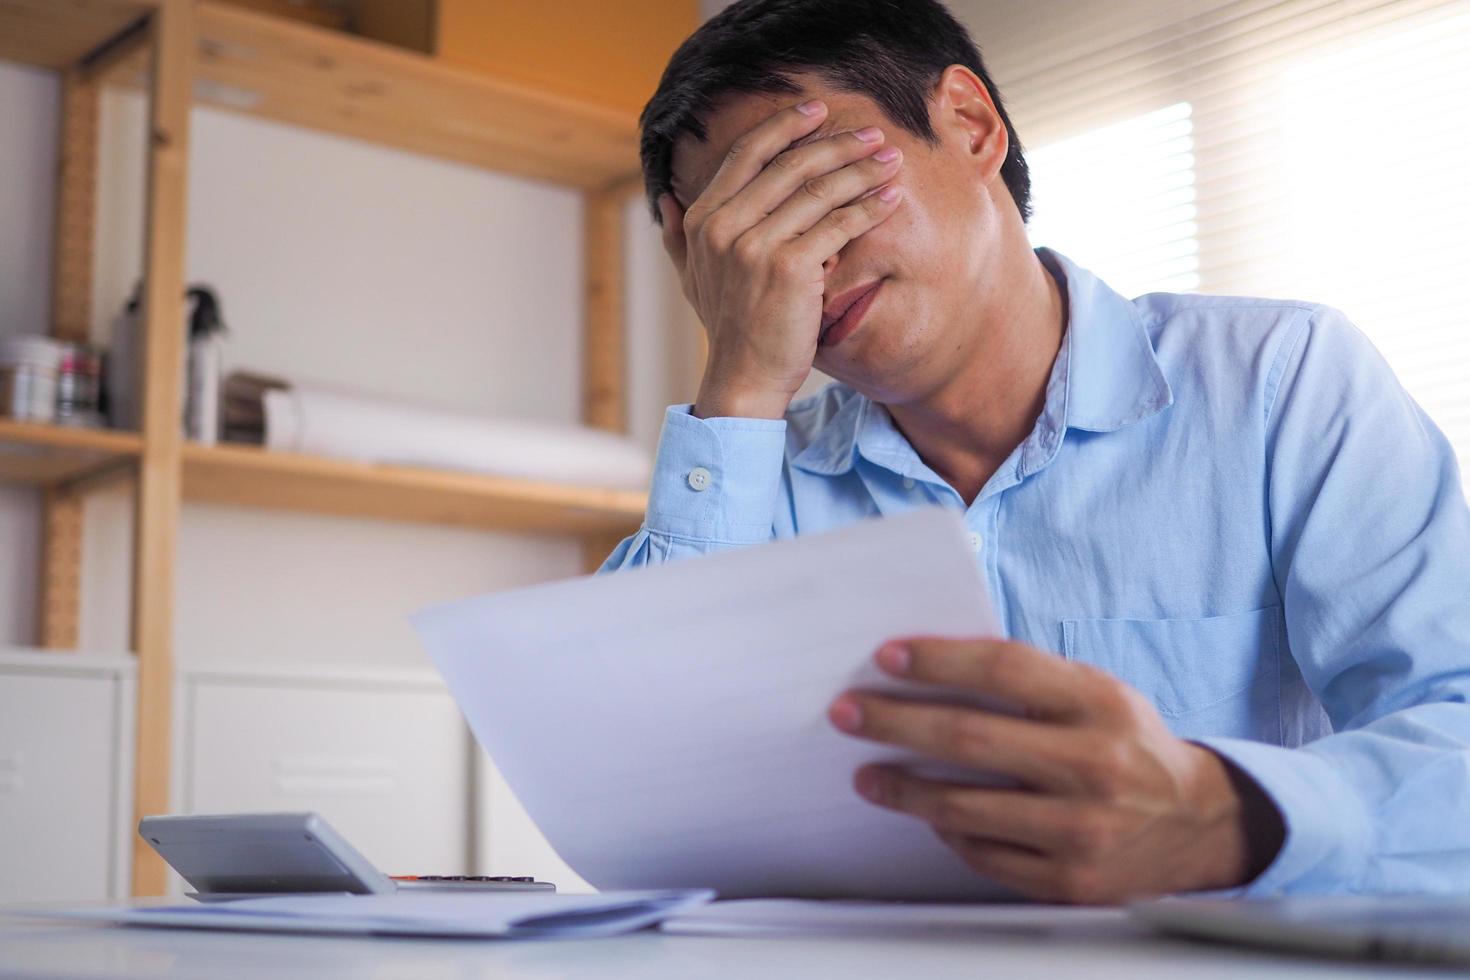
<path id="1" fill-rule="evenodd" d="M 1351 892 L 1364 867 L 1372 821 L 1361 792 L 1342 770 L 1308 748 L 1205 738 L 1200 745 L 1235 763 L 1276 804 L 1286 837 L 1242 896 Z"/>

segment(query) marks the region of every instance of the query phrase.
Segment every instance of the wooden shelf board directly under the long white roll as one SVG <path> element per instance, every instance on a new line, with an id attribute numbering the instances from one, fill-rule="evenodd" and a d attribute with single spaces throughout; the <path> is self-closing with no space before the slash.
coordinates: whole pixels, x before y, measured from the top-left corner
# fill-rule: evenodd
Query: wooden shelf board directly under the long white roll
<path id="1" fill-rule="evenodd" d="M 209 504 L 572 535 L 632 533 L 647 495 L 272 453 L 185 445 L 184 498 Z"/>

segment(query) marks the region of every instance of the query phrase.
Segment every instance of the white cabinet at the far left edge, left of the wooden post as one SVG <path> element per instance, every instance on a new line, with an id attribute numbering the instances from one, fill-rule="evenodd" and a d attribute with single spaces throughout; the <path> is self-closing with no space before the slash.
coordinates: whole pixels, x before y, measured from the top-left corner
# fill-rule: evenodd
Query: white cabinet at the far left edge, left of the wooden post
<path id="1" fill-rule="evenodd" d="M 0 902 L 128 893 L 134 667 L 0 652 Z"/>

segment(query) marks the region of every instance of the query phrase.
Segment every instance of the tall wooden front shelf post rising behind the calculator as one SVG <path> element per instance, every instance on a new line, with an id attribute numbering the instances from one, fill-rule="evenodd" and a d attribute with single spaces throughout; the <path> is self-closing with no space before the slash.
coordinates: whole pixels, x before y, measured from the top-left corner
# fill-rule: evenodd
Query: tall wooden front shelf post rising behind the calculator
<path id="1" fill-rule="evenodd" d="M 148 191 L 144 229 L 143 458 L 132 548 L 132 646 L 138 655 L 134 814 L 168 813 L 173 702 L 173 561 L 182 494 L 184 235 L 194 0 L 153 13 Z M 163 861 L 132 839 L 134 895 L 162 895 Z"/>

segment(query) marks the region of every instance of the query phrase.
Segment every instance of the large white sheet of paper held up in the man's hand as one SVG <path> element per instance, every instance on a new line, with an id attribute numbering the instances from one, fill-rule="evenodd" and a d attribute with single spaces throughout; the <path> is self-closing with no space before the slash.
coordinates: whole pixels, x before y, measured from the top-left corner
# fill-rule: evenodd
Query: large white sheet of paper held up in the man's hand
<path id="1" fill-rule="evenodd" d="M 864 763 L 916 760 L 826 718 L 851 686 L 920 692 L 872 666 L 888 638 L 998 635 L 957 514 L 501 592 L 415 626 L 532 820 L 597 887 L 1001 893 L 853 790 Z"/>

